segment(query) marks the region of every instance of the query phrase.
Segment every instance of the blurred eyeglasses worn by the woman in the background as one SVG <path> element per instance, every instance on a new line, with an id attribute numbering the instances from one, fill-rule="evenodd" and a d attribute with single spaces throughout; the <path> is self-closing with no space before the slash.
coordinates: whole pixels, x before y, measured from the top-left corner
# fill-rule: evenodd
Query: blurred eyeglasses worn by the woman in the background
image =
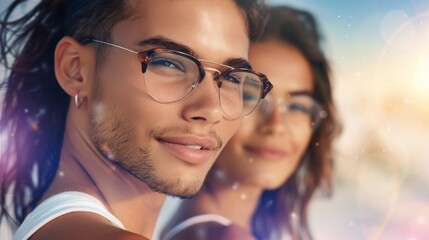
<path id="1" fill-rule="evenodd" d="M 285 124 L 293 128 L 310 128 L 315 130 L 328 113 L 322 105 L 309 95 L 291 96 L 287 100 L 275 100 L 268 95 L 259 105 L 257 115 L 262 121 L 268 119 L 278 107 Z"/>

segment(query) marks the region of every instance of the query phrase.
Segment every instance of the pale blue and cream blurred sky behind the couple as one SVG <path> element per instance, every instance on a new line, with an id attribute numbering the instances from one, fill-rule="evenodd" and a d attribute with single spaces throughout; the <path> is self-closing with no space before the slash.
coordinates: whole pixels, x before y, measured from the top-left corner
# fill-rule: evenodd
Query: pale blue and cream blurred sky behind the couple
<path id="1" fill-rule="evenodd" d="M 429 239 L 429 0 L 268 3 L 312 12 L 332 63 L 344 130 L 333 196 L 310 207 L 315 240 Z"/>

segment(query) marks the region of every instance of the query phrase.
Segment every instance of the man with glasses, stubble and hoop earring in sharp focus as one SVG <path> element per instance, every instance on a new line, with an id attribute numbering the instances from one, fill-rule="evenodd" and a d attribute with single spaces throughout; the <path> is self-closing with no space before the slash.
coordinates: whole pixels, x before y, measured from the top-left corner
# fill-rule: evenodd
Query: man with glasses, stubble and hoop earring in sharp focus
<path id="1" fill-rule="evenodd" d="M 195 195 L 271 89 L 246 60 L 259 7 L 46 0 L 6 14 L 5 65 L 23 48 L 6 82 L 2 207 L 8 191 L 19 222 L 37 206 L 15 238 L 150 238 L 161 193 Z"/>

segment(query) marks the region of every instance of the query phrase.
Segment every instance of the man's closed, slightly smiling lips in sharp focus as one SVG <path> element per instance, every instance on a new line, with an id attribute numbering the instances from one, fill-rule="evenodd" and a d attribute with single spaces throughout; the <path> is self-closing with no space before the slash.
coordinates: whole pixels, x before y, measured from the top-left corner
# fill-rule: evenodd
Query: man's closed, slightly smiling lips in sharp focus
<path id="1" fill-rule="evenodd" d="M 211 137 L 181 135 L 157 140 L 166 151 L 190 164 L 207 162 L 220 146 L 220 142 Z"/>

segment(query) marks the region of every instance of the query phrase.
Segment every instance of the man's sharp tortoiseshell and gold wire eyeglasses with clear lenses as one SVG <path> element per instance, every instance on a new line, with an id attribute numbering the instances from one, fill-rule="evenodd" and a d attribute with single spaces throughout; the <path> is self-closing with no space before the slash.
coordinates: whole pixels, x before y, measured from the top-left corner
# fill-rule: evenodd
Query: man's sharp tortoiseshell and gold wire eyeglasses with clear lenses
<path id="1" fill-rule="evenodd" d="M 136 52 L 92 38 L 83 39 L 81 43 L 100 43 L 136 54 L 141 62 L 146 91 L 159 103 L 174 103 L 184 99 L 203 81 L 206 71 L 213 71 L 221 108 L 224 116 L 230 120 L 248 116 L 273 88 L 262 73 L 196 59 L 180 51 L 153 48 Z M 204 67 L 202 63 L 218 65 L 224 70 L 221 72 Z"/>

